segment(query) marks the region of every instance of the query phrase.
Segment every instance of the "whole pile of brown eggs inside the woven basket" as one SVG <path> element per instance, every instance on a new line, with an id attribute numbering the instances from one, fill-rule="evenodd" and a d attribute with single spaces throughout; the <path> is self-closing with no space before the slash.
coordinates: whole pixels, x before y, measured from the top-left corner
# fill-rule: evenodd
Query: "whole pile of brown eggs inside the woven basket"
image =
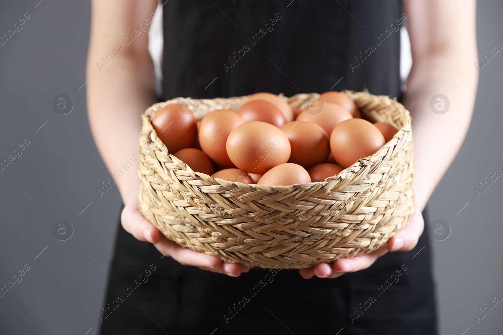
<path id="1" fill-rule="evenodd" d="M 151 120 L 167 150 L 194 172 L 244 184 L 324 181 L 398 131 L 361 119 L 354 101 L 336 91 L 294 109 L 275 94 L 255 93 L 237 113 L 219 109 L 196 121 L 184 111 L 183 104 L 168 104 Z"/>

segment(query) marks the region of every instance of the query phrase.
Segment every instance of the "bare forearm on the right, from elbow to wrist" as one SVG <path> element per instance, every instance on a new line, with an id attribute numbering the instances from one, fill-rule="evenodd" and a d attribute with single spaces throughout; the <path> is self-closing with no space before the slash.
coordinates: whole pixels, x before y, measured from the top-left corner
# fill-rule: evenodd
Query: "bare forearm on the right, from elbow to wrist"
<path id="1" fill-rule="evenodd" d="M 472 64 L 466 55 L 431 56 L 411 70 L 403 103 L 412 116 L 415 202 L 421 210 L 467 135 L 478 83 Z M 437 94 L 446 98 L 437 100 Z"/>

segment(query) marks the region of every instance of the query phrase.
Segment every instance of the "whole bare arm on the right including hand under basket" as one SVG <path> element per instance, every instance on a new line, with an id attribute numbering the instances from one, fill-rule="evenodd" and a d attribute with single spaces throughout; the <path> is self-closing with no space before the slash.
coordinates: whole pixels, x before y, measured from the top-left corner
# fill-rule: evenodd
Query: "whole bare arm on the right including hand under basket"
<path id="1" fill-rule="evenodd" d="M 300 270 L 304 278 L 336 278 L 368 268 L 388 251 L 410 251 L 424 230 L 422 210 L 457 155 L 466 136 L 478 83 L 475 0 L 406 0 L 412 69 L 404 105 L 414 138 L 416 210 L 400 232 L 371 254 Z M 470 10 L 471 9 L 471 10 Z M 464 80 L 464 81 L 463 81 Z M 447 96 L 450 108 L 435 114 L 430 100 Z M 440 102 L 440 101 L 439 101 Z M 445 101 L 444 101 L 445 102 Z M 438 110 L 437 113 L 441 113 Z"/>

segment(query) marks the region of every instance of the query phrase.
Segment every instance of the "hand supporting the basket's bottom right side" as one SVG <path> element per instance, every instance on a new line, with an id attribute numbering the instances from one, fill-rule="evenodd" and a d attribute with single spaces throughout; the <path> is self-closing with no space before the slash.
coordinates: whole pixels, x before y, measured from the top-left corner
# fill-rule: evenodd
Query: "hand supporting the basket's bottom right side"
<path id="1" fill-rule="evenodd" d="M 357 256 L 354 258 L 342 258 L 333 263 L 321 263 L 307 269 L 300 269 L 300 275 L 304 279 L 309 279 L 312 276 L 319 278 L 337 278 L 348 272 L 356 272 L 367 269 L 374 262 L 386 254 L 388 251 L 410 251 L 414 249 L 417 240 L 425 228 L 425 220 L 420 210 L 416 209 L 410 216 L 407 225 L 391 239 L 386 246 L 371 252 L 367 255 Z"/>

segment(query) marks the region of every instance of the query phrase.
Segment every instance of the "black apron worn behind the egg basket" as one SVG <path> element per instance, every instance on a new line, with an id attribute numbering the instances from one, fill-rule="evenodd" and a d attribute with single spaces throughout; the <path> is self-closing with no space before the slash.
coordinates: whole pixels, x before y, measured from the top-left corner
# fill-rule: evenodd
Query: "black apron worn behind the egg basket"
<path id="1" fill-rule="evenodd" d="M 400 96 L 401 1 L 290 1 L 166 2 L 161 99 Z M 231 278 L 161 257 L 119 225 L 102 334 L 436 334 L 426 234 L 336 279 L 262 269 Z"/>

